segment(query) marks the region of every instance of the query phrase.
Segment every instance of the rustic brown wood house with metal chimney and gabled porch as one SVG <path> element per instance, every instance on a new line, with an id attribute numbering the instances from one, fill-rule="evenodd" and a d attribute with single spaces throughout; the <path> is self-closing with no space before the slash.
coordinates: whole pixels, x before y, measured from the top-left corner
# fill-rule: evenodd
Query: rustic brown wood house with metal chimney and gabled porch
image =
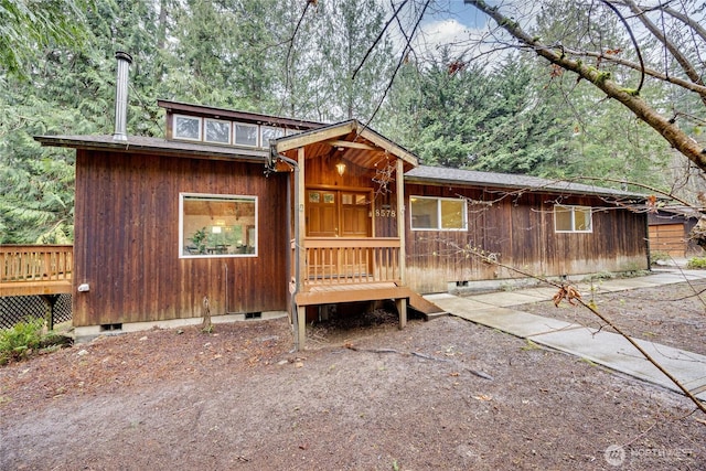
<path id="1" fill-rule="evenodd" d="M 516 277 L 473 250 L 546 276 L 648 268 L 627 193 L 419 168 L 356 120 L 160 100 L 165 138 L 127 136 L 118 85 L 114 136 L 36 137 L 76 149 L 78 336 L 196 323 L 205 300 L 223 320 L 288 313 L 298 347 L 320 306 L 394 300 L 402 328 L 419 293 Z"/>

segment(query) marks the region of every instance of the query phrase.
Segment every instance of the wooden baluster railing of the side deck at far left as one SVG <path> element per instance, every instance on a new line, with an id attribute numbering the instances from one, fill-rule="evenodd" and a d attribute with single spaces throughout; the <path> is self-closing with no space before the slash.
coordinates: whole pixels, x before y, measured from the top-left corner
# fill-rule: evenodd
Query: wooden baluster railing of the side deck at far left
<path id="1" fill-rule="evenodd" d="M 71 245 L 0 246 L 0 283 L 71 280 Z"/>

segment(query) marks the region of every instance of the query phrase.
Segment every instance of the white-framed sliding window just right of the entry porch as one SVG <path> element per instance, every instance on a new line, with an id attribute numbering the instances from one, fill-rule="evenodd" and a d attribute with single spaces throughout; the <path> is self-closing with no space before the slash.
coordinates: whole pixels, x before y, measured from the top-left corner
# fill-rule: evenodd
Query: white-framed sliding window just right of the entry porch
<path id="1" fill-rule="evenodd" d="M 413 231 L 466 231 L 466 200 L 410 196 Z"/>

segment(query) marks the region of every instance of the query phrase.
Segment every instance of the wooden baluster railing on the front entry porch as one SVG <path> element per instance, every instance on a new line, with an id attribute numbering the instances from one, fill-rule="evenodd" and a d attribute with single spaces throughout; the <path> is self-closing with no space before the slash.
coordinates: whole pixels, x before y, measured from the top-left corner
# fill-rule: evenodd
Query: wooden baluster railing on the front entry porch
<path id="1" fill-rule="evenodd" d="M 321 285 L 397 282 L 398 238 L 306 238 L 304 289 Z"/>

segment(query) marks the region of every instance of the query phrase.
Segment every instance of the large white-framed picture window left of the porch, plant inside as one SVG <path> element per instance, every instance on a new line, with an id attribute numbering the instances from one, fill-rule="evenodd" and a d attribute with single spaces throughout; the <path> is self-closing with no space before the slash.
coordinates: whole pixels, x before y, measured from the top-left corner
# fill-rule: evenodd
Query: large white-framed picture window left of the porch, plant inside
<path id="1" fill-rule="evenodd" d="M 182 193 L 179 256 L 257 255 L 257 197 Z"/>

